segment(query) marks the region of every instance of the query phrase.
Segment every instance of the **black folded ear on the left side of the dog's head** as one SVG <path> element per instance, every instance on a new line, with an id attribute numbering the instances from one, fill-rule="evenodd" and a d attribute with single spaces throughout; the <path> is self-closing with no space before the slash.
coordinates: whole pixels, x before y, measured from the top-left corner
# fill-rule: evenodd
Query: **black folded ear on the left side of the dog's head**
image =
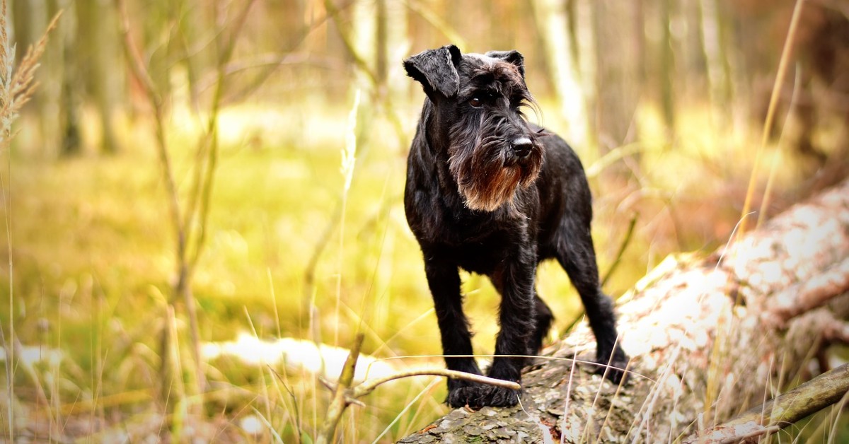
<path id="1" fill-rule="evenodd" d="M 461 57 L 459 48 L 446 45 L 404 60 L 404 70 L 407 70 L 408 76 L 422 84 L 428 97 L 437 92 L 450 98 L 457 94 L 460 87 L 457 66 Z"/>

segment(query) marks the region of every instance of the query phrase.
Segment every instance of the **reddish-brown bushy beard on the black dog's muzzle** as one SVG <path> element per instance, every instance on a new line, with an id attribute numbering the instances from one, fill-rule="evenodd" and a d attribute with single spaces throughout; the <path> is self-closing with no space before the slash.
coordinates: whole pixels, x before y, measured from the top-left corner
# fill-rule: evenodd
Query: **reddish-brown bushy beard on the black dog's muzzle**
<path id="1" fill-rule="evenodd" d="M 476 146 L 453 145 L 449 150 L 449 171 L 458 191 L 472 210 L 495 211 L 513 203 L 519 188 L 527 188 L 537 179 L 543 165 L 543 150 L 535 143 L 524 159 L 516 159 L 503 138 L 490 136 Z"/>

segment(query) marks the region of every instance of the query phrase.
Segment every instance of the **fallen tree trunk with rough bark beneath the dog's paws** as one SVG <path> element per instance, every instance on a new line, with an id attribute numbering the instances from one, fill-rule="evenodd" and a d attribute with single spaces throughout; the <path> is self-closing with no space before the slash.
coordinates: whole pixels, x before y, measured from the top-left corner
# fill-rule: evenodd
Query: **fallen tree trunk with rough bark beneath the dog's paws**
<path id="1" fill-rule="evenodd" d="M 710 429 L 808 379 L 812 359 L 849 339 L 847 291 L 849 181 L 638 282 L 619 306 L 625 385 L 584 363 L 594 341 L 582 323 L 526 368 L 520 406 L 460 408 L 402 442 L 666 442 Z"/>

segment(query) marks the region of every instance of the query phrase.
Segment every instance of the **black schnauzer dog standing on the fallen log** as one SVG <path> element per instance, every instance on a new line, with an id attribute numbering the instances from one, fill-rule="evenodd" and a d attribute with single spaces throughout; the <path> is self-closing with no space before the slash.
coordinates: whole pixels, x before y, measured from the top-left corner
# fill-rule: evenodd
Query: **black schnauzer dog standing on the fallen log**
<path id="1" fill-rule="evenodd" d="M 404 208 L 424 255 L 447 367 L 481 374 L 469 357 L 458 267 L 486 274 L 501 294 L 499 356 L 488 374 L 519 382 L 525 359 L 501 355 L 531 355 L 542 346 L 554 317 L 534 278 L 540 261 L 556 258 L 581 295 L 598 362 L 624 368 L 613 306 L 599 289 L 587 178 L 563 139 L 525 121 L 521 109 L 534 102 L 522 55 L 461 54 L 449 45 L 404 60 L 404 68 L 427 95 Z M 606 374 L 618 382 L 623 373 Z M 516 402 L 509 389 L 448 380 L 452 407 Z"/>

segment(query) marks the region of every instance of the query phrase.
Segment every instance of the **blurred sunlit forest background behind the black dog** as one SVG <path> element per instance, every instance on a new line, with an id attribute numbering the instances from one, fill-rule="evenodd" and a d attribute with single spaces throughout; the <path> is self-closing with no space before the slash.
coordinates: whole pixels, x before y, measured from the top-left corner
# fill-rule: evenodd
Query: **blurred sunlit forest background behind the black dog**
<path id="1" fill-rule="evenodd" d="M 329 403 L 318 376 L 358 331 L 372 375 L 441 367 L 402 209 L 424 94 L 401 61 L 427 48 L 524 54 L 531 120 L 587 168 L 608 293 L 711 252 L 744 212 L 849 171 L 849 2 L 808 0 L 789 38 L 795 7 L 10 1 L 19 62 L 63 12 L 2 153 L 4 436 L 307 442 Z M 554 264 L 537 288 L 554 340 L 580 301 Z M 492 353 L 498 296 L 469 275 L 464 293 Z M 441 379 L 381 386 L 340 434 L 397 439 L 444 396 Z"/>

